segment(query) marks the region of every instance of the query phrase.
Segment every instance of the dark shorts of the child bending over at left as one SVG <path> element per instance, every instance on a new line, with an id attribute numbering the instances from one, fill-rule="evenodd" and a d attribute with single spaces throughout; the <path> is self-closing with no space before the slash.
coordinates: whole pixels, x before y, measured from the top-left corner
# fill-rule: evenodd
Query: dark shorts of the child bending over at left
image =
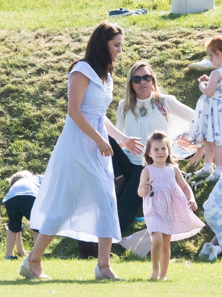
<path id="1" fill-rule="evenodd" d="M 22 217 L 24 216 L 30 220 L 31 209 L 35 199 L 36 197 L 30 195 L 21 195 L 15 196 L 4 203 L 9 217 L 9 230 L 17 233 L 23 229 Z"/>

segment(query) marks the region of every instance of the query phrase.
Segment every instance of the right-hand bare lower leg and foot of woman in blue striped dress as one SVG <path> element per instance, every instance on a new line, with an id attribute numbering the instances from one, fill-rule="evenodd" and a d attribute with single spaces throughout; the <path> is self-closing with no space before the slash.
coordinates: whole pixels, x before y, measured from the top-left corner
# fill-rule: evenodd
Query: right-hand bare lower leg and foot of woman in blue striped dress
<path id="1" fill-rule="evenodd" d="M 98 244 L 98 266 L 106 266 L 100 268 L 100 271 L 104 277 L 114 278 L 117 277 L 116 274 L 112 271 L 110 265 L 110 251 L 112 246 L 112 238 L 103 238 L 99 237 Z"/>

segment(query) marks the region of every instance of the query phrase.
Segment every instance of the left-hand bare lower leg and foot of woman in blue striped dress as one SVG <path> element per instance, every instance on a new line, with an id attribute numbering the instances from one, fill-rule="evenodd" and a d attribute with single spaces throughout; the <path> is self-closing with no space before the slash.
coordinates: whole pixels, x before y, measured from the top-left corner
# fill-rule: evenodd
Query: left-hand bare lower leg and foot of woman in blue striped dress
<path id="1" fill-rule="evenodd" d="M 52 241 L 52 239 L 54 238 L 54 235 L 45 235 L 42 233 L 39 233 L 36 242 L 32 248 L 32 250 L 30 251 L 28 258 L 31 260 L 39 260 L 40 262 L 29 262 L 29 268 L 30 271 L 38 276 L 40 274 L 42 274 L 43 270 L 42 270 L 42 266 L 41 266 L 41 259 L 42 256 L 44 254 L 44 251 L 46 249 L 46 247 L 50 244 L 50 242 Z"/>

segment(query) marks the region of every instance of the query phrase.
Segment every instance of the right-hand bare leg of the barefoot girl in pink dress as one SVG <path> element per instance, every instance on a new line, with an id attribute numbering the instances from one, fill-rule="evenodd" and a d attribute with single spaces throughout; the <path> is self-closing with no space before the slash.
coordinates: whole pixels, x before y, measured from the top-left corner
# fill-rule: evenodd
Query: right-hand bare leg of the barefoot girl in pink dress
<path id="1" fill-rule="evenodd" d="M 160 255 L 160 279 L 166 279 L 166 274 L 170 262 L 170 239 L 171 235 L 163 233 L 163 246 Z"/>

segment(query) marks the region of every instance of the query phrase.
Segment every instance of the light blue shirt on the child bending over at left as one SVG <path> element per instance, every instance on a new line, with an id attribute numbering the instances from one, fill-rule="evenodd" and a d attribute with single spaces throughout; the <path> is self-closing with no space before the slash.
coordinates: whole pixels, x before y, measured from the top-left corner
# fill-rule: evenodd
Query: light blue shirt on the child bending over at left
<path id="1" fill-rule="evenodd" d="M 9 189 L 9 192 L 2 200 L 2 203 L 5 203 L 7 200 L 15 196 L 29 195 L 36 197 L 43 177 L 44 175 L 33 175 L 30 177 L 20 178 Z"/>

